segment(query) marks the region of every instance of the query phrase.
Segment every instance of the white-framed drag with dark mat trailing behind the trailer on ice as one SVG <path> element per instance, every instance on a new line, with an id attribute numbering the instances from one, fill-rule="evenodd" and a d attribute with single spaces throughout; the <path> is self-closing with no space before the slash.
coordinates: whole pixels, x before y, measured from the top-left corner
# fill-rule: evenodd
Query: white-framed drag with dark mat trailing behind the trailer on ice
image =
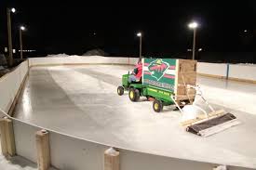
<path id="1" fill-rule="evenodd" d="M 202 91 L 198 85 L 187 85 L 188 88 L 195 88 L 196 96 L 202 98 L 204 105 L 206 105 L 210 112 L 205 111 L 202 107 L 193 104 L 185 105 L 181 108 L 177 103 L 176 107 L 182 112 L 182 126 L 186 127 L 186 131 L 202 137 L 209 137 L 217 134 L 223 130 L 226 130 L 237 124 L 241 124 L 236 116 L 230 112 L 223 110 L 215 111 L 206 98 L 203 97 Z M 174 97 L 172 97 L 174 98 Z M 194 114 L 190 111 L 199 111 Z M 189 115 L 189 119 L 186 119 L 186 115 Z M 191 118 L 192 117 L 192 118 Z"/>

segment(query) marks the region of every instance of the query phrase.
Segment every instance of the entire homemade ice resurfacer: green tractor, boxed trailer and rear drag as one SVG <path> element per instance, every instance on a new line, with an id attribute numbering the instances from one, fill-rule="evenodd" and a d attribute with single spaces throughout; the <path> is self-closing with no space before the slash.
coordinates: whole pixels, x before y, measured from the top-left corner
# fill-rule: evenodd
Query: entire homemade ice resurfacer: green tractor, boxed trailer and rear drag
<path id="1" fill-rule="evenodd" d="M 195 108 L 198 114 L 193 118 L 183 120 L 188 132 L 199 136 L 210 136 L 236 124 L 236 116 L 223 110 L 215 111 L 202 96 L 196 85 L 196 60 L 191 59 L 141 59 L 142 76 L 140 81 L 128 83 L 130 74 L 122 76 L 122 85 L 117 87 L 117 94 L 122 96 L 128 91 L 131 101 L 140 97 L 154 100 L 153 109 L 156 112 L 164 106 L 175 105 L 182 114 L 186 106 Z M 195 105 L 195 96 L 202 98 L 209 112 Z"/>

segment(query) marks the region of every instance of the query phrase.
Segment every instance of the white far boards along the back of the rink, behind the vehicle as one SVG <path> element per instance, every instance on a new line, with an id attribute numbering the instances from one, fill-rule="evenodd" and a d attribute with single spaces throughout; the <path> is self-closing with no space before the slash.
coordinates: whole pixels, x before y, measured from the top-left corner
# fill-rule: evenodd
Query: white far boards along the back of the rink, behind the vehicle
<path id="1" fill-rule="evenodd" d="M 40 65 L 58 65 L 58 64 L 131 64 L 134 65 L 138 61 L 138 58 L 111 58 L 101 56 L 70 56 L 64 58 L 31 58 L 29 59 L 30 66 Z M 197 72 L 206 75 L 215 75 L 225 78 L 227 75 L 227 64 L 226 63 L 209 63 L 209 62 L 198 62 Z M 230 64 L 229 77 L 245 80 L 256 81 L 256 67 Z"/>

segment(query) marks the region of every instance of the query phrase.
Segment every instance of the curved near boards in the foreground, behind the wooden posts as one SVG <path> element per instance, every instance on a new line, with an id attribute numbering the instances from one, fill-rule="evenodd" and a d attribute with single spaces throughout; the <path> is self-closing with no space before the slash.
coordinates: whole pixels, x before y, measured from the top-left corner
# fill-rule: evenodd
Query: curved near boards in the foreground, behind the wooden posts
<path id="1" fill-rule="evenodd" d="M 36 163 L 35 132 L 39 130 L 32 124 L 14 120 L 17 154 Z M 103 153 L 110 146 L 70 137 L 50 130 L 51 164 L 59 169 L 103 170 Z M 217 164 L 186 161 L 132 150 L 120 151 L 120 169 L 122 170 L 205 170 Z M 249 170 L 248 168 L 228 166 L 229 170 Z"/>

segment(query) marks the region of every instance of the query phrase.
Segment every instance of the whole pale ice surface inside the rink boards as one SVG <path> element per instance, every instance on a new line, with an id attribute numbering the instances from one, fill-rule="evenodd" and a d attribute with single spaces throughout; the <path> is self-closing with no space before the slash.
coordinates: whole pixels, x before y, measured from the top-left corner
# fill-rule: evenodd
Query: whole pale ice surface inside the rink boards
<path id="1" fill-rule="evenodd" d="M 179 124 L 180 111 L 155 113 L 152 101 L 116 94 L 129 66 L 33 67 L 14 116 L 74 137 L 128 150 L 256 168 L 256 85 L 197 77 L 205 98 L 242 124 L 197 137 Z"/>

